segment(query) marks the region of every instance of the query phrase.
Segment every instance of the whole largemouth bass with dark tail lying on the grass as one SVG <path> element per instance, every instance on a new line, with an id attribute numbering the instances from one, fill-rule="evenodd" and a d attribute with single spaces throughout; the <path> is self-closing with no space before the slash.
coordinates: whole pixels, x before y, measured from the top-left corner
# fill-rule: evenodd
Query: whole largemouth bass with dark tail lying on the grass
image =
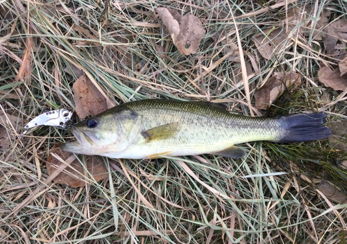
<path id="1" fill-rule="evenodd" d="M 330 137 L 324 113 L 278 118 L 232 114 L 210 102 L 148 99 L 123 103 L 69 130 L 76 141 L 61 150 L 115 159 L 156 159 L 187 155 L 241 158 L 240 143 L 289 143 Z"/>

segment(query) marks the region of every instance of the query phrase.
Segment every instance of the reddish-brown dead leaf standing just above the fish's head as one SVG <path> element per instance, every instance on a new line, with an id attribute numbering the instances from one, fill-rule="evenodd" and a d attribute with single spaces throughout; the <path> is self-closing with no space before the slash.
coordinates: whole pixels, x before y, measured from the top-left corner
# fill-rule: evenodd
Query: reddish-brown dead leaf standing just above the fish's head
<path id="1" fill-rule="evenodd" d="M 108 109 L 106 98 L 87 76 L 81 76 L 72 86 L 76 103 L 76 114 L 84 119 Z"/>

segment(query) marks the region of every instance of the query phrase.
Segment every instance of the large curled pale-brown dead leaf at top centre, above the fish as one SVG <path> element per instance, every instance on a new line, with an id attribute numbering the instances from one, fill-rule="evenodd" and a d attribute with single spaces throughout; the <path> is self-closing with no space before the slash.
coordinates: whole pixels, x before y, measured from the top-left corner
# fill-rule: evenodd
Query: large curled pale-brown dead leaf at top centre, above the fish
<path id="1" fill-rule="evenodd" d="M 156 8 L 156 10 L 169 30 L 178 51 L 183 55 L 196 53 L 205 35 L 201 21 L 193 15 L 181 16 L 177 10 L 169 8 Z"/>

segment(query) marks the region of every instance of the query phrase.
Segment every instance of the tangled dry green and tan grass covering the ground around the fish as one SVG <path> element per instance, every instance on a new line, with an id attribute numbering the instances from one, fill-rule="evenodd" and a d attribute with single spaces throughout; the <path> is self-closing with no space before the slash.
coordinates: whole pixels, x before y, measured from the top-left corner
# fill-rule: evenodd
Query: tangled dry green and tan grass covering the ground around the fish
<path id="1" fill-rule="evenodd" d="M 321 110 L 328 121 L 346 118 L 346 91 L 326 89 L 316 79 L 319 64 L 334 59 L 303 35 L 312 29 L 298 24 L 271 60 L 251 41 L 291 8 L 327 8 L 323 1 L 285 2 L 0 1 L 0 105 L 7 115 L 1 116 L 1 140 L 10 138 L 8 146 L 1 144 L 0 242 L 344 243 L 347 204 L 327 198 L 315 181 L 330 180 L 346 192 L 346 169 L 339 166 L 346 155 L 327 140 L 248 143 L 247 157 L 237 160 L 201 155 L 123 160 L 115 167 L 105 159 L 108 179 L 73 189 L 54 184 L 45 165 L 49 148 L 64 141 L 66 131 L 44 127 L 18 139 L 42 108 L 74 110 L 76 77 L 66 69 L 75 67 L 116 103 L 218 101 L 245 115 L 264 114 L 253 106 L 256 85 L 273 72 L 294 70 L 303 85 L 266 114 Z M 155 14 L 158 6 L 203 21 L 207 33 L 198 53 L 178 53 Z M 332 6 L 332 19 L 346 18 L 343 1 Z M 232 43 L 242 47 L 241 62 L 230 58 Z M 273 175 L 280 172 L 288 174 Z M 262 176 L 244 177 L 255 174 Z"/>

